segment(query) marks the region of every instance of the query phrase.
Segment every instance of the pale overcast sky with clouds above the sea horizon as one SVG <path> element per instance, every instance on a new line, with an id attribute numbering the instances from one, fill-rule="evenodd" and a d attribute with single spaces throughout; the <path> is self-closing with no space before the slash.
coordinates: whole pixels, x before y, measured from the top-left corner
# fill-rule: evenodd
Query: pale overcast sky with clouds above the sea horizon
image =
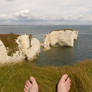
<path id="1" fill-rule="evenodd" d="M 1 0 L 0 24 L 92 24 L 92 0 Z"/>

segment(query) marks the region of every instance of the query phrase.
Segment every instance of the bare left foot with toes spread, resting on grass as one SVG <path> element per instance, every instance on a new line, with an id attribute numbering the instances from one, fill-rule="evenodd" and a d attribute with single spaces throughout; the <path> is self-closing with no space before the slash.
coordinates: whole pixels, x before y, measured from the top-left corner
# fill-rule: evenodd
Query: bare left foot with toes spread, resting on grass
<path id="1" fill-rule="evenodd" d="M 34 77 L 30 77 L 30 80 L 28 80 L 25 84 L 24 92 L 38 92 L 38 84 Z"/>

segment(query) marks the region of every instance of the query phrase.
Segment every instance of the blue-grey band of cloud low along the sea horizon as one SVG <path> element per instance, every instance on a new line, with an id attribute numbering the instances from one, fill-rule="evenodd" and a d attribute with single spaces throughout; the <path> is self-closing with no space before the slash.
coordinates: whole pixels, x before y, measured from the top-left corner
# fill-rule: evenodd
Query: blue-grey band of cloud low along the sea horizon
<path id="1" fill-rule="evenodd" d="M 17 20 L 16 20 L 17 19 Z M 25 16 L 17 16 L 16 19 L 0 19 L 0 24 L 91 24 L 92 21 L 80 21 L 80 20 L 65 20 L 62 19 L 56 19 L 56 20 L 44 20 L 44 19 L 35 19 L 35 18 L 28 18 Z"/>

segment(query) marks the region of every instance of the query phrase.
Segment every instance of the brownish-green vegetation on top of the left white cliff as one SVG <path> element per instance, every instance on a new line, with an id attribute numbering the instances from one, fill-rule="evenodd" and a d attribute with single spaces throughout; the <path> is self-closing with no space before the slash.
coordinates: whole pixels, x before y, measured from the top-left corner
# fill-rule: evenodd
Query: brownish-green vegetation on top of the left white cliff
<path id="1" fill-rule="evenodd" d="M 15 51 L 18 50 L 18 45 L 16 43 L 16 39 L 18 34 L 0 34 L 0 40 L 3 41 L 5 47 L 8 48 L 8 55 L 12 55 Z"/>

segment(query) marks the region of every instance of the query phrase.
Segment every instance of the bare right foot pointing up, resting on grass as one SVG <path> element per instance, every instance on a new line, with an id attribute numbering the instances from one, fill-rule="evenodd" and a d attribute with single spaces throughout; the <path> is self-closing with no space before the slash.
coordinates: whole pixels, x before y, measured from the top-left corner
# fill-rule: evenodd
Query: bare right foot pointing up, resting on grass
<path id="1" fill-rule="evenodd" d="M 67 74 L 64 74 L 58 83 L 57 92 L 69 92 L 70 85 L 71 85 L 70 78 L 68 77 Z"/>

